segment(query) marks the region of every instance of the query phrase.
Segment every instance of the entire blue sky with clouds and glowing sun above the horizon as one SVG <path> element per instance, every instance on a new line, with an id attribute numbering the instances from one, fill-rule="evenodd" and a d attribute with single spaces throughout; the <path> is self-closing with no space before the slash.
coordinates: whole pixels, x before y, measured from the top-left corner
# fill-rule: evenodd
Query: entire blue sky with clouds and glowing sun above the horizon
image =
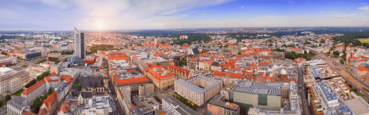
<path id="1" fill-rule="evenodd" d="M 1 0 L 0 31 L 369 26 L 368 0 Z"/>

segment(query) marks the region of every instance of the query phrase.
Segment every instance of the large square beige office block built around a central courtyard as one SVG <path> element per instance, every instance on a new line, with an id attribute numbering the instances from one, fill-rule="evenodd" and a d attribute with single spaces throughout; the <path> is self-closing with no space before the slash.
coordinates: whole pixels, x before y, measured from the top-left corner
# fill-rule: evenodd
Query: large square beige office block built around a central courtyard
<path id="1" fill-rule="evenodd" d="M 174 91 L 186 100 L 202 106 L 222 90 L 222 81 L 205 76 L 174 81 Z"/>

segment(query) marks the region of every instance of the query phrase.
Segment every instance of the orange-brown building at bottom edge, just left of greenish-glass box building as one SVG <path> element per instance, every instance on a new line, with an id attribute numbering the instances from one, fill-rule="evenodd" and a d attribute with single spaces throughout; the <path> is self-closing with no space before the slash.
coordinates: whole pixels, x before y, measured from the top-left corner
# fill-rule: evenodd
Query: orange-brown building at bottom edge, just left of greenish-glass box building
<path id="1" fill-rule="evenodd" d="M 240 115 L 240 108 L 236 104 L 225 101 L 225 97 L 216 95 L 208 103 L 208 115 Z"/>

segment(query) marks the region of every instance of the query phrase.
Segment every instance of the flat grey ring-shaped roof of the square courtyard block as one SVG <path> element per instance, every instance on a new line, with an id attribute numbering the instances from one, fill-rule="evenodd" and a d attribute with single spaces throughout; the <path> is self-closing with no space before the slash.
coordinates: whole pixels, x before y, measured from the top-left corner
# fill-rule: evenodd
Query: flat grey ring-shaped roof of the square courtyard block
<path id="1" fill-rule="evenodd" d="M 210 81 L 210 82 L 213 82 L 213 84 L 211 84 L 208 87 L 202 89 L 202 88 L 200 88 L 200 87 L 198 87 L 198 86 L 193 85 L 193 84 L 190 83 L 190 82 L 192 82 L 194 80 L 197 80 L 197 79 L 203 79 L 203 80 L 206 80 L 206 81 Z M 184 86 L 184 87 L 186 87 L 186 88 L 188 88 L 188 89 L 190 89 L 190 90 L 192 90 L 192 91 L 194 91 L 196 93 L 199 93 L 199 94 L 201 94 L 201 93 L 203 93 L 205 91 L 208 91 L 208 90 L 212 89 L 213 87 L 215 87 L 216 85 L 222 83 L 222 81 L 220 81 L 220 80 L 208 78 L 208 77 L 205 77 L 205 76 L 195 77 L 195 78 L 192 78 L 192 79 L 187 80 L 187 81 L 184 81 L 182 79 L 178 79 L 178 80 L 176 80 L 174 82 L 177 82 L 177 83 L 181 84 L 182 86 Z"/>

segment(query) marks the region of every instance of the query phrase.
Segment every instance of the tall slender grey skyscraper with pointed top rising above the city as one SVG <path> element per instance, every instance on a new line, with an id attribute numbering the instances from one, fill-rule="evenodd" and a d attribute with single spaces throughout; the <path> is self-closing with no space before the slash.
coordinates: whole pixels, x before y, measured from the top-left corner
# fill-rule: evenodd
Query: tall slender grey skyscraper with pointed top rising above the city
<path id="1" fill-rule="evenodd" d="M 85 33 L 78 31 L 76 27 L 74 27 L 74 53 L 82 59 L 85 59 L 86 57 Z"/>

